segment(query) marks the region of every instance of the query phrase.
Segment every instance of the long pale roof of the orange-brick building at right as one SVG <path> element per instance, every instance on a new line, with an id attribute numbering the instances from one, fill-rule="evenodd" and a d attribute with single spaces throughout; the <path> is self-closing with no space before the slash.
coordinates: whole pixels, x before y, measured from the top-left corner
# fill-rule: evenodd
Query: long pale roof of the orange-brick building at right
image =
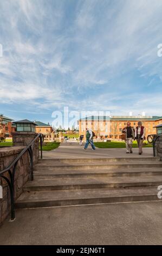
<path id="1" fill-rule="evenodd" d="M 162 119 L 162 117 L 158 117 L 156 115 L 154 116 L 148 116 L 148 117 L 138 117 L 138 116 L 112 116 L 112 117 L 109 117 L 109 116 L 93 116 L 93 115 L 90 115 L 90 117 L 85 117 L 85 118 L 81 118 L 79 119 L 80 121 L 88 121 L 88 120 L 105 120 L 105 121 L 108 121 L 108 120 L 123 120 L 123 121 L 127 121 L 127 120 L 132 120 L 132 121 L 138 121 L 138 120 L 159 120 L 159 119 Z"/>

